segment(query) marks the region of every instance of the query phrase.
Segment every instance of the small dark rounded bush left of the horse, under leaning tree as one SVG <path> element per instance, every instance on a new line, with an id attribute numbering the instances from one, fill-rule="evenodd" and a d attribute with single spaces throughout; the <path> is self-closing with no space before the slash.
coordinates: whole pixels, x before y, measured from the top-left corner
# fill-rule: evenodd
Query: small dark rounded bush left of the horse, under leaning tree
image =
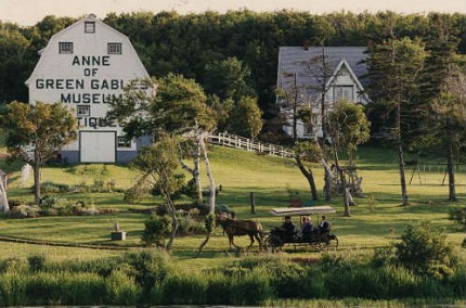
<path id="1" fill-rule="evenodd" d="M 168 216 L 152 215 L 144 222 L 142 242 L 146 246 L 165 247 L 165 240 L 170 235 L 171 221 Z"/>

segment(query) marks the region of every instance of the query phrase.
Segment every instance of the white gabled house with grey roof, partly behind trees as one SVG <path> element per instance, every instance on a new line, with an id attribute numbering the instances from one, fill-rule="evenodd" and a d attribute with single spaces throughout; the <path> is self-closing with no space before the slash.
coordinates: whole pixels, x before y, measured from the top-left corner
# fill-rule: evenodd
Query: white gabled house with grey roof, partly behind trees
<path id="1" fill-rule="evenodd" d="M 290 102 L 297 101 L 300 108 L 310 108 L 313 114 L 311 126 L 298 120 L 298 138 L 322 136 L 322 105 L 327 113 L 341 100 L 368 102 L 360 80 L 367 73 L 363 62 L 365 50 L 364 47 L 280 48 L 276 87 L 282 94 L 277 95 L 277 103 L 288 123 L 283 127 L 287 134 L 293 134 Z"/>

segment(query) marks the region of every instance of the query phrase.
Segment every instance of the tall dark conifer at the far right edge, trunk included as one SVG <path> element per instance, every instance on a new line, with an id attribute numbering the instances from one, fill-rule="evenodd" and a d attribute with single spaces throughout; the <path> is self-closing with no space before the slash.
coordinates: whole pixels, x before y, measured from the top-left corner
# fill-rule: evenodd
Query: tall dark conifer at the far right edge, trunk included
<path id="1" fill-rule="evenodd" d="M 416 143 L 444 155 L 449 175 L 449 198 L 456 201 L 454 164 L 464 150 L 465 73 L 456 54 L 457 29 L 446 15 L 430 15 L 432 30 L 426 38 L 429 54 L 422 72 L 419 123 Z"/>

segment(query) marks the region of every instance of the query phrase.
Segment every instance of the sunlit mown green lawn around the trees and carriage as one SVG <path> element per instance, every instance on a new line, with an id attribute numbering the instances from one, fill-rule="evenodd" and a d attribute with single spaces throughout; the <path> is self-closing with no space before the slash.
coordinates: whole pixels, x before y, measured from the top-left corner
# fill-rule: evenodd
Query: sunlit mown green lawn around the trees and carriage
<path id="1" fill-rule="evenodd" d="M 273 156 L 257 155 L 231 149 L 212 146 L 209 153 L 216 185 L 221 185 L 217 204 L 226 204 L 236 211 L 240 218 L 259 220 L 266 230 L 281 223 L 279 217 L 270 214 L 272 207 L 288 206 L 289 190 L 296 190 L 303 200 L 310 200 L 310 192 L 306 179 L 294 166 L 293 161 Z M 396 153 L 386 149 L 362 147 L 358 154 L 358 175 L 363 178 L 364 197 L 355 198 L 357 206 L 351 207 L 351 217 L 342 217 L 344 208 L 340 197 L 334 197 L 332 205 L 337 213 L 332 215 L 334 232 L 338 235 L 342 252 L 371 251 L 385 246 L 399 238 L 406 223 L 430 220 L 438 228 L 444 228 L 448 241 L 458 247 L 465 238 L 464 230 L 448 220 L 449 207 L 448 185 L 442 184 L 443 167 L 428 162 L 423 165 L 420 172 L 406 169 L 406 180 L 411 205 L 400 206 L 399 172 Z M 31 180 L 26 188 L 21 183 L 21 165 L 7 166 L 0 162 L 0 168 L 10 171 L 9 196 L 33 200 L 30 193 Z M 316 185 L 322 192 L 322 167 L 313 168 Z M 204 174 L 205 175 L 205 174 Z M 126 166 L 114 165 L 79 165 L 70 167 L 46 167 L 42 181 L 53 183 L 78 184 L 92 183 L 95 179 L 112 180 L 117 188 L 128 189 L 134 182 L 138 172 Z M 466 200 L 465 171 L 456 174 L 456 192 L 458 205 Z M 204 185 L 208 180 L 203 177 Z M 446 182 L 445 182 L 446 183 Z M 249 195 L 255 193 L 256 214 L 250 214 Z M 160 200 L 145 200 L 141 204 L 131 205 L 124 202 L 121 192 L 60 194 L 57 197 L 92 202 L 98 209 L 113 209 L 114 213 L 98 216 L 59 216 L 38 217 L 33 219 L 0 219 L 0 236 L 29 239 L 37 241 L 66 242 L 75 244 L 119 245 L 122 247 L 138 247 L 141 245 L 141 234 L 147 215 L 130 211 L 130 209 L 150 208 Z M 319 204 L 324 204 L 322 200 Z M 318 217 L 313 217 L 314 223 Z M 114 223 L 128 232 L 127 241 L 113 242 L 109 233 Z M 192 264 L 193 255 L 203 235 L 177 238 L 173 256 L 180 262 Z M 246 246 L 248 239 L 235 240 Z M 464 249 L 463 249 L 464 251 Z M 47 254 L 53 258 L 95 258 L 111 256 L 119 252 L 107 249 L 87 249 L 70 247 L 51 247 L 7 243 L 0 245 L 0 258 L 25 257 L 30 254 Z M 316 254 L 315 252 L 299 251 L 297 256 Z M 462 253 L 465 254 L 464 252 Z M 228 261 L 236 253 L 228 249 L 228 239 L 217 228 L 208 245 L 205 247 L 198 264 Z M 221 258 L 219 258 L 221 257 Z"/>

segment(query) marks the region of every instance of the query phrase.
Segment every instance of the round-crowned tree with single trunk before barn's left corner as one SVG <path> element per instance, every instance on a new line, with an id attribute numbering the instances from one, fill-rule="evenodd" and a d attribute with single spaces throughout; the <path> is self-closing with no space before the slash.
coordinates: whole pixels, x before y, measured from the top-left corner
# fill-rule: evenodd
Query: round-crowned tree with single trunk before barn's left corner
<path id="1" fill-rule="evenodd" d="M 8 151 L 34 170 L 35 203 L 40 205 L 40 168 L 77 137 L 76 117 L 61 103 L 11 102 L 0 114 Z"/>

